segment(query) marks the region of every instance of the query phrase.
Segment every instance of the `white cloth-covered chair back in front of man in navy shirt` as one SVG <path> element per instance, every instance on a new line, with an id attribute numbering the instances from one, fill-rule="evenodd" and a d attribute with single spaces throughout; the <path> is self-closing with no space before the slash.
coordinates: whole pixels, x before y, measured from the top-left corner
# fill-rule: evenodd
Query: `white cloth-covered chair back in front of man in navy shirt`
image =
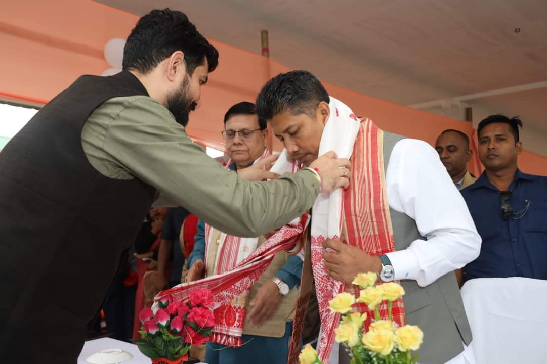
<path id="1" fill-rule="evenodd" d="M 462 298 L 476 364 L 547 363 L 547 281 L 472 279 Z"/>

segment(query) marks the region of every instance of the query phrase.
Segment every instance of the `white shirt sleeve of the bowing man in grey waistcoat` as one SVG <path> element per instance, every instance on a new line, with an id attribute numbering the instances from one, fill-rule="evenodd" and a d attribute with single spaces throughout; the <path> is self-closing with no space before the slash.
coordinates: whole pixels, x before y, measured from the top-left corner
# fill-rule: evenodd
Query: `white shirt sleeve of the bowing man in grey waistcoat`
<path id="1" fill-rule="evenodd" d="M 426 286 L 479 256 L 481 238 L 467 204 L 432 146 L 416 139 L 395 144 L 386 187 L 389 207 L 414 219 L 427 238 L 387 254 L 395 279 Z"/>

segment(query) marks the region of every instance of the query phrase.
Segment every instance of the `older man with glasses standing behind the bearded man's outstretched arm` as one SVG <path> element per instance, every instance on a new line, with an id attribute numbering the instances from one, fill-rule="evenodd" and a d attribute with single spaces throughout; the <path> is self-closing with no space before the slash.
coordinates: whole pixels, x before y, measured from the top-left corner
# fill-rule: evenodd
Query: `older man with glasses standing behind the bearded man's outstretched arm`
<path id="1" fill-rule="evenodd" d="M 224 116 L 226 152 L 230 156 L 227 167 L 237 171 L 253 165 L 270 152 L 266 147 L 266 120 L 259 119 L 255 105 L 240 102 Z M 222 274 L 249 256 L 265 241 L 227 235 L 203 221 L 197 225 L 194 251 L 190 254 L 188 280 Z M 286 362 L 293 329 L 293 311 L 298 296 L 295 287 L 300 282 L 302 259 L 281 251 L 250 291 L 234 298 L 220 311 L 236 312 L 240 322 L 228 325 L 216 322 L 211 343 L 207 346 L 205 362 L 229 364 L 253 362 L 260 357 L 264 363 Z M 238 321 L 238 320 L 236 320 Z M 217 333 L 238 331 L 236 342 Z M 231 339 L 232 341 L 234 339 Z M 220 350 L 222 349 L 222 350 Z"/>

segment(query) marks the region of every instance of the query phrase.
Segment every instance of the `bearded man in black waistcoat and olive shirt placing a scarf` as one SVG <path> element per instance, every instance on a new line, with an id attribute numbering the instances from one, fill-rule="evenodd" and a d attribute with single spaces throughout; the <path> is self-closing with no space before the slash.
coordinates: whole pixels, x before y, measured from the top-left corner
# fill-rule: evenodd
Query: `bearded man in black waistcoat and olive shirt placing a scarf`
<path id="1" fill-rule="evenodd" d="M 320 173 L 251 182 L 194 145 L 185 131 L 188 114 L 200 106 L 201 86 L 217 64 L 218 51 L 185 14 L 153 10 L 127 38 L 123 72 L 78 78 L 2 150 L 5 361 L 77 360 L 86 324 L 156 191 L 212 226 L 249 237 L 304 213 L 322 186 L 348 185 L 339 167 L 349 162 L 335 160 L 334 152 L 313 166 Z M 238 174 L 272 177 L 261 168 L 246 170 Z M 70 300 L 59 298 L 67 294 Z M 48 335 L 20 340 L 36 322 Z"/>

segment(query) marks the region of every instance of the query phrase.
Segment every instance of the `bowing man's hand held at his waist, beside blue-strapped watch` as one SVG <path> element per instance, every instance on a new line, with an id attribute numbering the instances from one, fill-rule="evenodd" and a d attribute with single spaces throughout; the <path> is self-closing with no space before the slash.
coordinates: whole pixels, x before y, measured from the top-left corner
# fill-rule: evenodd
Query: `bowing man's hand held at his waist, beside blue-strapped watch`
<path id="1" fill-rule="evenodd" d="M 353 278 L 359 273 L 380 272 L 382 262 L 380 257 L 371 256 L 364 251 L 337 240 L 327 239 L 323 248 L 333 249 L 335 252 L 324 251 L 323 259 L 330 277 L 351 285 Z"/>

